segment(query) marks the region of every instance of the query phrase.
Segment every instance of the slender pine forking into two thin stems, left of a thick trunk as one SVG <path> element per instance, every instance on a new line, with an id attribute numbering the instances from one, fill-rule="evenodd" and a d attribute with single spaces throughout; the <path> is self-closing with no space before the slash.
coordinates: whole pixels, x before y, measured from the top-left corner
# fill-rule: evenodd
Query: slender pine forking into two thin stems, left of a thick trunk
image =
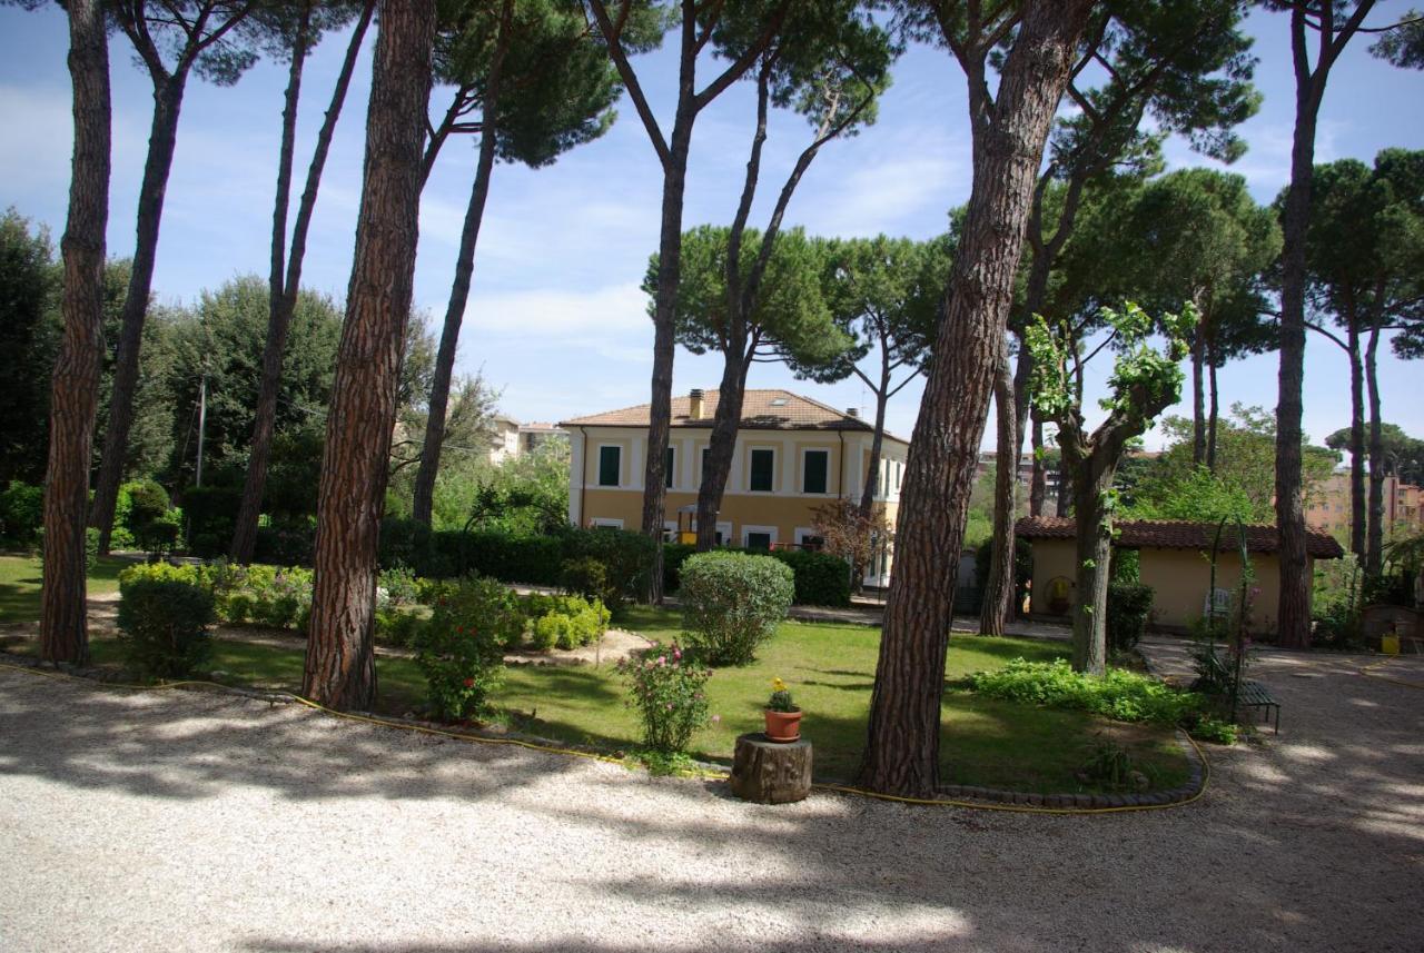
<path id="1" fill-rule="evenodd" d="M 290 57 L 288 85 L 282 110 L 282 147 L 278 155 L 276 201 L 272 209 L 272 262 L 268 273 L 268 334 L 262 348 L 262 381 L 258 385 L 258 400 L 252 422 L 246 482 L 242 488 L 242 504 L 238 508 L 236 526 L 232 532 L 231 556 L 234 562 L 252 560 L 252 548 L 258 538 L 258 519 L 262 515 L 262 498 L 266 489 L 268 464 L 272 457 L 272 435 L 276 428 L 276 401 L 282 390 L 282 356 L 286 351 L 288 331 L 292 314 L 296 312 L 298 293 L 302 287 L 302 263 L 306 257 L 306 236 L 316 211 L 316 193 L 326 168 L 332 137 L 346 104 L 352 74 L 356 71 L 356 57 L 366 38 L 366 28 L 376 10 L 376 0 L 362 0 L 353 10 L 350 4 L 333 4 L 318 9 L 315 0 L 302 0 L 295 9 L 278 9 L 286 14 L 278 21 L 279 50 Z M 292 161 L 296 141 L 296 111 L 302 95 L 302 73 L 310 50 L 323 31 L 345 24 L 356 13 L 356 26 L 346 44 L 346 57 L 332 88 L 326 118 L 316 134 L 316 148 L 306 171 L 306 186 L 296 208 L 292 225 L 290 246 L 286 240 L 286 216 L 292 193 Z"/>

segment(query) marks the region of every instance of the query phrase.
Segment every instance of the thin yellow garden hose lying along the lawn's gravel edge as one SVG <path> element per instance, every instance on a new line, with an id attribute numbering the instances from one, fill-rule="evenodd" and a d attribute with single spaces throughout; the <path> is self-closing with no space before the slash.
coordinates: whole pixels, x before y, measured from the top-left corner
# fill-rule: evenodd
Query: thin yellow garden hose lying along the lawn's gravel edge
<path id="1" fill-rule="evenodd" d="M 9 670 L 13 670 L 13 671 L 24 671 L 24 673 L 30 673 L 30 674 L 36 674 L 36 676 L 43 676 L 46 678 L 61 678 L 61 680 L 68 678 L 68 680 L 74 680 L 74 681 L 85 681 L 85 683 L 88 683 L 91 686 L 98 686 L 98 687 L 105 687 L 105 688 L 124 688 L 124 690 L 130 690 L 130 691 L 155 691 L 155 690 L 164 690 L 164 688 L 184 688 L 184 687 L 189 687 L 189 686 L 204 686 L 204 687 L 218 688 L 219 691 L 235 693 L 232 686 L 225 686 L 225 684 L 221 684 L 221 683 L 216 683 L 216 681 L 185 680 L 185 681 L 164 681 L 164 683 L 159 683 L 159 684 L 127 684 L 127 683 L 121 683 L 121 681 L 98 681 L 98 680 L 94 680 L 94 678 L 85 678 L 83 676 L 73 676 L 73 674 L 68 674 L 68 673 L 64 673 L 64 671 L 53 671 L 53 670 L 47 670 L 47 669 L 37 669 L 37 667 L 33 667 L 33 666 L 16 666 L 16 664 L 11 664 L 11 663 L 7 663 L 7 661 L 0 661 L 0 669 L 9 669 Z M 1407 683 L 1404 683 L 1404 684 L 1407 684 Z M 1424 687 L 1424 686 L 1415 686 L 1415 687 Z M 235 694 L 244 694 L 244 693 L 235 693 Z M 360 723 L 365 723 L 365 724 L 379 725 L 382 728 L 399 728 L 399 730 L 403 730 L 403 731 L 414 731 L 414 733 L 419 733 L 419 734 L 429 734 L 429 735 L 436 735 L 436 737 L 441 737 L 441 738 L 453 738 L 456 741 L 466 741 L 466 742 L 470 742 L 470 744 L 511 745 L 511 747 L 515 747 L 515 748 L 528 748 L 530 751 L 543 751 L 545 754 L 567 755 L 567 757 L 572 757 L 572 758 L 588 758 L 590 761 L 602 761 L 605 764 L 618 764 L 618 765 L 625 765 L 627 767 L 627 762 L 622 758 L 615 758 L 612 755 L 595 754 L 595 752 L 591 752 L 591 751 L 577 751 L 574 748 L 561 748 L 558 745 L 540 744 L 540 742 L 535 742 L 535 741 L 523 741 L 520 738 L 487 738 L 484 735 L 466 734 L 466 733 L 461 733 L 461 731 L 446 731 L 443 728 L 430 728 L 427 725 L 407 724 L 407 723 L 403 723 L 403 721 L 392 721 L 392 720 L 387 720 L 387 718 L 377 718 L 375 715 L 352 714 L 349 711 L 336 711 L 335 708 L 328 708 L 326 706 L 323 706 L 323 704 L 320 704 L 318 701 L 312 701 L 310 698 L 303 698 L 302 696 L 293 694 L 290 691 L 263 690 L 263 694 L 266 694 L 269 697 L 289 698 L 290 701 L 295 701 L 298 704 L 306 706 L 308 708 L 313 708 L 316 711 L 320 711 L 320 713 L 328 714 L 328 715 L 333 715 L 336 718 L 345 718 L 346 721 L 360 721 Z M 244 696 L 244 697 L 246 697 L 246 696 Z M 1121 808 L 1045 808 L 1045 806 L 1030 805 L 1030 804 L 988 804 L 988 802 L 983 802 L 983 801 L 953 801 L 953 799 L 944 799 L 944 798 L 938 798 L 938 799 L 936 799 L 936 798 L 901 798 L 901 797 L 897 797 L 897 795 L 893 795 L 893 794 L 880 794 L 877 791 L 867 791 L 864 788 L 854 788 L 854 787 L 843 785 L 843 784 L 813 784 L 812 788 L 816 789 L 816 791 L 827 791 L 827 792 L 833 792 L 833 794 L 859 795 L 859 797 L 863 797 L 863 798 L 873 798 L 876 801 L 891 801 L 891 802 L 896 802 L 896 804 L 918 804 L 918 805 L 938 806 L 938 808 L 967 808 L 967 809 L 971 809 L 971 811 L 1007 811 L 1007 812 L 1011 812 L 1011 814 L 1065 814 L 1065 815 L 1082 814 L 1082 815 L 1088 815 L 1088 814 L 1126 814 L 1126 812 L 1132 812 L 1132 811 L 1165 811 L 1168 808 L 1183 808 L 1183 806 L 1192 804 L 1193 801 L 1199 799 L 1206 792 L 1206 785 L 1208 785 L 1208 782 L 1210 781 L 1210 777 L 1212 777 L 1212 767 L 1210 767 L 1210 762 L 1206 760 L 1206 752 L 1202 751 L 1202 747 L 1199 744 L 1196 744 L 1196 740 L 1192 738 L 1190 735 L 1188 735 L 1188 741 L 1190 741 L 1192 748 L 1196 750 L 1196 757 L 1200 758 L 1200 761 L 1202 761 L 1202 784 L 1198 787 L 1196 794 L 1193 794 L 1192 797 L 1186 798 L 1185 801 L 1173 801 L 1171 804 L 1141 804 L 1141 805 L 1125 805 L 1125 806 L 1121 806 Z M 703 770 L 703 768 L 688 770 L 688 771 L 682 771 L 681 774 L 684 774 L 684 775 L 692 775 L 692 777 L 699 777 L 699 778 L 708 778 L 708 779 L 726 779 L 728 778 L 728 772 L 726 771 L 708 771 L 708 770 Z"/>

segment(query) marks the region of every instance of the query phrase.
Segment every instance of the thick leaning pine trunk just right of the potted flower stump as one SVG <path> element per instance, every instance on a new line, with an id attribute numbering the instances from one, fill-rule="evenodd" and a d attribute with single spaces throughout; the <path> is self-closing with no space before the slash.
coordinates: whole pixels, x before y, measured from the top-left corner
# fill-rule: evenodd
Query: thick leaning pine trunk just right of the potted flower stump
<path id="1" fill-rule="evenodd" d="M 1025 10 L 993 107 L 971 81 L 981 110 L 974 188 L 901 488 L 900 512 L 913 518 L 900 519 L 896 535 L 860 765 L 873 791 L 927 797 L 938 787 L 944 656 L 978 441 L 1044 141 L 1091 6 Z"/>

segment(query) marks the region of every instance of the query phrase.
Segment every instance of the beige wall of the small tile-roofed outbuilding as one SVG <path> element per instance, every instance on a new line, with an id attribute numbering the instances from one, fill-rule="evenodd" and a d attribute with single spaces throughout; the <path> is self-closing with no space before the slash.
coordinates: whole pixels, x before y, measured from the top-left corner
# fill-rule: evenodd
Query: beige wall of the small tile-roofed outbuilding
<path id="1" fill-rule="evenodd" d="M 1077 597 L 1074 542 L 1071 539 L 1035 539 L 1032 612 L 1048 616 L 1048 593 L 1058 576 L 1069 580 L 1069 597 Z M 1212 568 L 1205 552 L 1192 549 L 1142 549 L 1143 585 L 1152 586 L 1152 624 L 1188 629 L 1202 617 L 1210 587 Z M 1276 632 L 1276 606 L 1280 596 L 1280 562 L 1273 553 L 1252 553 L 1255 572 L 1250 630 Z M 1216 560 L 1216 587 L 1235 593 L 1240 586 L 1240 556 L 1220 553 Z"/>

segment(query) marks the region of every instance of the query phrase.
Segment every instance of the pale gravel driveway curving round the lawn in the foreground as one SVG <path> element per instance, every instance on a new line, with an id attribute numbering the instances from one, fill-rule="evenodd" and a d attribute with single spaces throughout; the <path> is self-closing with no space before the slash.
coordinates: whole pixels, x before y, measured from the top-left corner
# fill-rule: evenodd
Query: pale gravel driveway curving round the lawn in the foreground
<path id="1" fill-rule="evenodd" d="M 1213 751 L 1188 808 L 1074 818 L 762 808 L 292 706 L 0 670 L 0 949 L 1413 953 L 1424 691 L 1358 663 L 1263 659 L 1279 738 Z M 1424 684 L 1417 661 L 1387 673 Z"/>

